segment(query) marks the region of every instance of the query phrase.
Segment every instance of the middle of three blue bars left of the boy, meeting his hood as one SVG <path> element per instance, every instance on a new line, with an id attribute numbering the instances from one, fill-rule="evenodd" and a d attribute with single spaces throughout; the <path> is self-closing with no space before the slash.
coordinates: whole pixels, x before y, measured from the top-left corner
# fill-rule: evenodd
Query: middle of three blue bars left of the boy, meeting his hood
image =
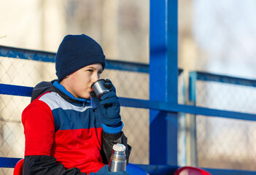
<path id="1" fill-rule="evenodd" d="M 18 85 L 0 84 L 0 94 L 12 96 L 31 96 L 33 88 Z"/>

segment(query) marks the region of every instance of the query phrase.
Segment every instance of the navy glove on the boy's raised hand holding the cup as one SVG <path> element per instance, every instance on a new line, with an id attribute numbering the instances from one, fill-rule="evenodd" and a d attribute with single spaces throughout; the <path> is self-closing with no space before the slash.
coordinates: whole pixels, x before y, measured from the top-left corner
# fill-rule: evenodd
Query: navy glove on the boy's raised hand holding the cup
<path id="1" fill-rule="evenodd" d="M 121 122 L 120 101 L 115 93 L 115 87 L 109 79 L 106 79 L 105 87 L 109 89 L 101 98 L 97 98 L 93 91 L 90 92 L 93 102 L 96 104 L 95 113 L 101 116 L 101 123 L 112 126 Z"/>

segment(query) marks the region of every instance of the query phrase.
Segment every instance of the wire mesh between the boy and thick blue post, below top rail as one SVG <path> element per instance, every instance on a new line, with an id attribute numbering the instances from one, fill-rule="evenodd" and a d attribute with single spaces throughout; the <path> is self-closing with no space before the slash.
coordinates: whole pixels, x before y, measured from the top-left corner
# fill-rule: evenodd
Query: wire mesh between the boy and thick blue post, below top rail
<path id="1" fill-rule="evenodd" d="M 111 79 L 117 95 L 126 98 L 149 98 L 149 76 L 145 73 L 105 70 L 101 78 Z M 121 107 L 123 131 L 132 147 L 131 163 L 149 163 L 149 110 Z M 141 149 L 143 148 L 143 149 Z"/>

